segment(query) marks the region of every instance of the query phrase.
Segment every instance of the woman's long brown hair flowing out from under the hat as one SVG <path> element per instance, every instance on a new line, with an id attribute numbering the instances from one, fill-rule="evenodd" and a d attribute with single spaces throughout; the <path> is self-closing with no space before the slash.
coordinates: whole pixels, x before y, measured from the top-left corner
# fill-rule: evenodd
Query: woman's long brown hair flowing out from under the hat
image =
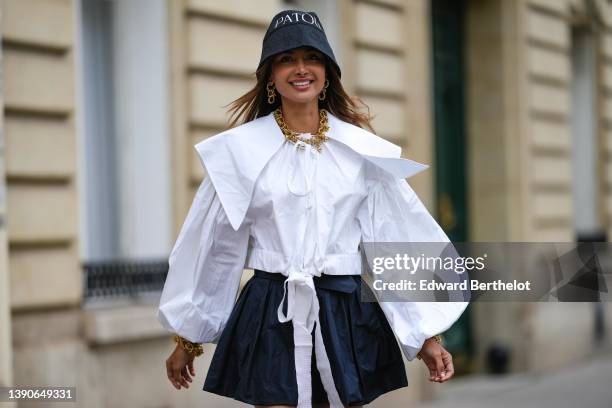
<path id="1" fill-rule="evenodd" d="M 276 110 L 281 104 L 280 95 L 277 94 L 273 104 L 268 103 L 268 93 L 266 84 L 272 73 L 274 56 L 267 58 L 261 67 L 255 72 L 257 83 L 255 86 L 242 95 L 240 98 L 229 103 L 228 113 L 230 113 L 230 128 L 250 122 L 253 119 L 266 116 Z M 351 123 L 361 128 L 367 128 L 374 132 L 370 121 L 370 108 L 360 98 L 349 96 L 342 83 L 335 67 L 325 57 L 325 73 L 329 80 L 326 96 L 323 101 L 319 100 L 319 108 L 326 109 L 332 115 L 345 122 Z M 367 109 L 367 113 L 359 112 L 360 105 Z"/>

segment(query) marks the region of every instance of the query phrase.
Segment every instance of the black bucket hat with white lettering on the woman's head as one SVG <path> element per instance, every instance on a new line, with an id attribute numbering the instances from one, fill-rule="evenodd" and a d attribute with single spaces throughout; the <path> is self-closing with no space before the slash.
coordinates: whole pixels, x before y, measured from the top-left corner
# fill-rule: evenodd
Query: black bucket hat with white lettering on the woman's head
<path id="1" fill-rule="evenodd" d="M 264 61 L 280 52 L 293 48 L 312 47 L 325 54 L 341 75 L 319 16 L 313 11 L 283 10 L 272 18 L 261 47 L 261 59 L 257 69 Z"/>

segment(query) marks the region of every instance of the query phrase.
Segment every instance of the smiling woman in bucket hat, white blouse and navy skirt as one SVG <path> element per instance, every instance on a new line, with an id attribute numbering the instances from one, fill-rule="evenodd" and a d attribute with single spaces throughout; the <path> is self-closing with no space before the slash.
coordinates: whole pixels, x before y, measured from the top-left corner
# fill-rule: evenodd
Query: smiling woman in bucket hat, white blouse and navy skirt
<path id="1" fill-rule="evenodd" d="M 204 390 L 258 406 L 361 406 L 407 386 L 402 352 L 430 381 L 453 376 L 440 344 L 467 303 L 361 302 L 359 245 L 448 242 L 403 180 L 427 167 L 366 131 L 312 12 L 277 14 L 257 84 L 232 126 L 198 143 L 206 169 L 159 307 L 176 333 L 177 389 L 216 343 Z M 243 268 L 255 275 L 234 302 Z M 401 350 L 395 339 L 397 335 Z"/>

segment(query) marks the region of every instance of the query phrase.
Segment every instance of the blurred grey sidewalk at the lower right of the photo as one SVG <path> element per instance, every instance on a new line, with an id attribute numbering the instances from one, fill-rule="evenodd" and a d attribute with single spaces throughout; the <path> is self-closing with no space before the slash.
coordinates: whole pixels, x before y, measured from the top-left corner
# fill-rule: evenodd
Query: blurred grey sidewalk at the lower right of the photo
<path id="1" fill-rule="evenodd" d="M 375 405 L 375 404 L 374 404 Z M 451 380 L 415 408 L 611 408 L 612 355 L 543 374 Z"/>

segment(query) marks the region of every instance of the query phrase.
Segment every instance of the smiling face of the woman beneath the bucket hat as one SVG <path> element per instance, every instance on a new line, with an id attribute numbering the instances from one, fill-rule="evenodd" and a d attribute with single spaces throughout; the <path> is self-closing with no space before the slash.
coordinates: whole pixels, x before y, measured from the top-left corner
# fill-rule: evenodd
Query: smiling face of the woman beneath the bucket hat
<path id="1" fill-rule="evenodd" d="M 275 55 L 270 80 L 286 102 L 317 103 L 325 85 L 325 56 L 309 47 Z"/>

